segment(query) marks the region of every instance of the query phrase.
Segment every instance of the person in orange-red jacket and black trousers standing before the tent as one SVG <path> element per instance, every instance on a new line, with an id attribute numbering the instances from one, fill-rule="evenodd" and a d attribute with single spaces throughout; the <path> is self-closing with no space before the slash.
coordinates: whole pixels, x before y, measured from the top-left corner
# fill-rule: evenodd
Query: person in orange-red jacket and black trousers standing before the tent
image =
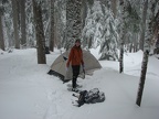
<path id="1" fill-rule="evenodd" d="M 75 45 L 71 48 L 68 60 L 66 63 L 66 67 L 68 68 L 70 64 L 72 65 L 73 69 L 73 79 L 72 79 L 72 90 L 76 89 L 76 80 L 80 74 L 81 64 L 84 68 L 84 61 L 83 61 L 83 51 L 81 48 L 81 40 L 77 39 L 75 41 Z"/>

